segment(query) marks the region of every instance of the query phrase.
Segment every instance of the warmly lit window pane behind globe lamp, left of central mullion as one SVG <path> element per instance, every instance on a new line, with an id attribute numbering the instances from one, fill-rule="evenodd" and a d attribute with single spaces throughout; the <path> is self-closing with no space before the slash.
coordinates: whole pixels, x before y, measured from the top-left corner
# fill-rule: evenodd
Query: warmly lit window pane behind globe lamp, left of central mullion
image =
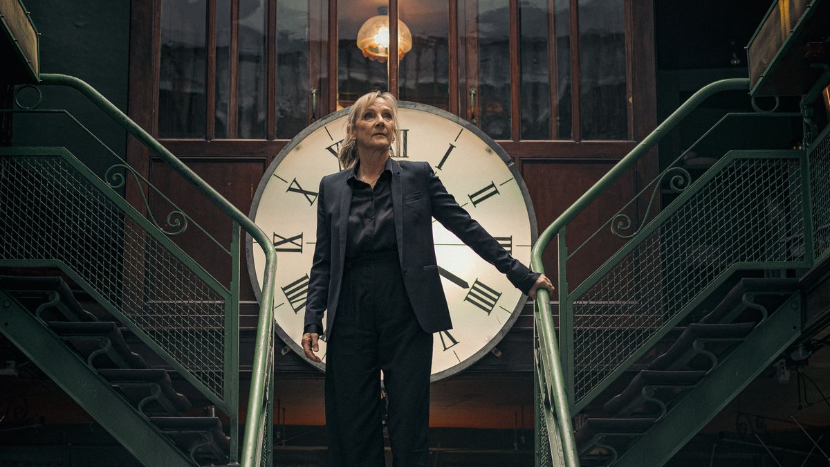
<path id="1" fill-rule="evenodd" d="M 386 2 L 341 2 L 337 9 L 337 108 L 351 106 L 358 97 L 373 89 L 386 90 L 387 63 L 369 60 L 357 47 L 360 27 L 378 16 L 378 6 Z"/>

